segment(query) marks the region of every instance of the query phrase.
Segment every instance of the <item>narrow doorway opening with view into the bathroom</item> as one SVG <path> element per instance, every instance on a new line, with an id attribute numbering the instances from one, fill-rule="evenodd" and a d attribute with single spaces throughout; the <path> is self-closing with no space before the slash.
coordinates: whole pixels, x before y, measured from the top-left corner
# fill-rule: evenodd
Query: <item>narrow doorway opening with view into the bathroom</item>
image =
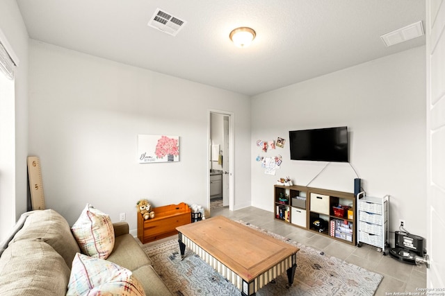
<path id="1" fill-rule="evenodd" d="M 209 112 L 209 189 L 208 209 L 234 207 L 233 114 L 211 110 Z"/>

